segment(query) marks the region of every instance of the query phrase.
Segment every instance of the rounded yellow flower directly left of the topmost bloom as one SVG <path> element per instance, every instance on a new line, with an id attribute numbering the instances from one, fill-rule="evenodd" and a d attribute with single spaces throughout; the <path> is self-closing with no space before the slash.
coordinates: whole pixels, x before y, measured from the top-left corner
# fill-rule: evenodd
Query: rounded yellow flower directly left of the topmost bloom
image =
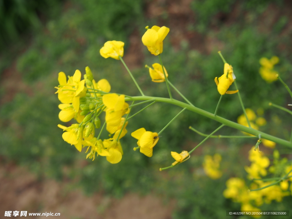
<path id="1" fill-rule="evenodd" d="M 103 58 L 114 58 L 119 60 L 119 56 L 123 57 L 124 55 L 124 42 L 121 41 L 107 41 L 105 45 L 100 49 L 100 55 Z"/>

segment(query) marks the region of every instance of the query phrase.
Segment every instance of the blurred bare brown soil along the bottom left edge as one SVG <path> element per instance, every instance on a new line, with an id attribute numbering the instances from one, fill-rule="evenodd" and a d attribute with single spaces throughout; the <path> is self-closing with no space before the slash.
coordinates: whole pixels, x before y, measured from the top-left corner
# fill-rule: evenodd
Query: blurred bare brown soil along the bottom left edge
<path id="1" fill-rule="evenodd" d="M 95 193 L 88 197 L 81 189 L 72 189 L 65 182 L 39 180 L 24 167 L 13 163 L 1 164 L 0 181 L 1 218 L 5 211 L 27 211 L 60 213 L 60 219 L 168 219 L 174 207 L 174 201 L 166 206 L 153 194 L 144 197 L 126 194 L 122 199 L 115 199 Z"/>

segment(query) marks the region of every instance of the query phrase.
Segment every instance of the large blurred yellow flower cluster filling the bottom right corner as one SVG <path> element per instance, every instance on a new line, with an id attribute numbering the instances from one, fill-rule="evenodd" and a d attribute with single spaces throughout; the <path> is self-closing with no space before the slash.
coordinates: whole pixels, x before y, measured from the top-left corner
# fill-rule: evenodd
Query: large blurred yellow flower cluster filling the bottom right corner
<path id="1" fill-rule="evenodd" d="M 277 165 L 279 162 L 279 153 L 274 152 L 274 165 L 269 168 L 270 173 L 277 172 L 282 165 Z M 251 189 L 258 189 L 270 185 L 274 181 L 263 181 L 261 180 L 262 176 L 267 175 L 266 168 L 270 165 L 270 161 L 263 153 L 259 153 L 251 148 L 249 152 L 249 160 L 251 165 L 246 166 L 245 169 L 248 173 L 248 178 L 256 179 L 254 183 L 250 185 Z M 292 166 L 288 165 L 282 174 L 289 173 L 292 169 Z M 292 176 L 292 174 L 291 174 Z M 291 180 L 291 178 L 290 178 Z M 223 195 L 225 198 L 232 199 L 235 202 L 241 203 L 242 211 L 259 211 L 259 206 L 264 203 L 270 204 L 271 201 L 282 201 L 283 197 L 291 195 L 292 185 L 290 187 L 290 192 L 287 191 L 289 184 L 288 180 L 282 181 L 279 185 L 272 185 L 262 190 L 249 191 L 244 180 L 241 178 L 230 178 L 226 182 L 227 188 L 224 190 Z"/>

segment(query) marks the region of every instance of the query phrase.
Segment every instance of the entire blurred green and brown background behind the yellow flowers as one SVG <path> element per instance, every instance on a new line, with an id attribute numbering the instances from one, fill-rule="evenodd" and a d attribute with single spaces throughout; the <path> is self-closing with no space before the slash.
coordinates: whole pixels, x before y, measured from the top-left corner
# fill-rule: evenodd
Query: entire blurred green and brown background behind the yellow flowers
<path id="1" fill-rule="evenodd" d="M 286 107 L 291 98 L 279 81 L 267 83 L 259 60 L 276 55 L 281 78 L 292 87 L 292 2 L 289 0 L 0 0 L 0 214 L 5 211 L 57 212 L 58 218 L 225 218 L 240 204 L 223 197 L 230 177 L 246 179 L 254 140 L 209 139 L 175 168 L 171 151 L 191 150 L 220 124 L 184 112 L 163 132 L 148 158 L 130 136 L 140 127 L 159 132 L 179 111 L 157 103 L 129 121 L 119 164 L 104 157 L 86 160 L 64 142 L 54 86 L 58 73 L 106 78 L 112 92 L 138 95 L 121 62 L 104 59 L 108 40 L 125 42 L 124 60 L 146 95 L 167 97 L 164 83 L 152 83 L 145 64 L 159 62 L 142 45 L 145 26 L 170 32 L 161 54 L 169 80 L 197 107 L 214 112 L 220 98 L 214 78 L 223 74 L 220 50 L 233 66 L 246 108 L 263 109 L 261 131 L 289 139 L 291 119 L 268 103 Z M 178 100 L 180 96 L 173 92 Z M 290 107 L 291 108 L 291 107 Z M 137 109 L 138 111 L 138 109 Z M 237 95 L 224 95 L 218 115 L 237 121 Z M 221 135 L 241 135 L 228 127 Z M 105 135 L 104 138 L 107 138 Z M 276 146 L 288 159 L 291 150 Z M 272 150 L 261 148 L 271 157 Z M 219 153 L 223 176 L 212 180 L 204 155 Z M 262 210 L 292 210 L 291 195 Z M 272 207 L 271 207 L 272 206 Z M 1 217 L 2 217 L 1 216 Z M 33 217 L 31 217 L 33 218 Z M 35 217 L 37 218 L 37 217 Z M 232 218 L 232 217 L 231 217 Z M 244 218 L 244 217 L 241 217 Z M 269 217 L 266 217 L 269 218 Z"/>

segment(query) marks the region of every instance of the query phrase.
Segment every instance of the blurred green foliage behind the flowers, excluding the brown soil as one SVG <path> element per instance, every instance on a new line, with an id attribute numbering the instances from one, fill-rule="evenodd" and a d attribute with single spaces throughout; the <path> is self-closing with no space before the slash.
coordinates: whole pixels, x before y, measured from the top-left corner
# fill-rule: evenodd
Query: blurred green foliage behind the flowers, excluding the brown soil
<path id="1" fill-rule="evenodd" d="M 29 4 L 13 2 L 24 8 Z M 267 84 L 258 73 L 261 57 L 277 55 L 280 58 L 277 70 L 291 87 L 291 54 L 277 47 L 280 40 L 289 44 L 288 37 L 279 36 L 288 22 L 287 18 L 280 17 L 268 34 L 260 32 L 256 26 L 257 18 L 270 2 L 230 0 L 222 4 L 218 0 L 193 1 L 192 8 L 198 16 L 195 29 L 204 37 L 213 37 L 222 43 L 222 53 L 234 68 L 245 107 L 253 110 L 262 107 L 265 110 L 264 117 L 270 124 L 264 131 L 287 138 L 291 124 L 285 119 L 286 113 L 271 109 L 267 103 L 271 101 L 284 106 L 290 100 L 288 93 L 279 81 Z M 249 150 L 255 143 L 252 140 L 210 139 L 187 162 L 160 173 L 160 167 L 173 162 L 170 151 L 190 150 L 204 139 L 190 131 L 189 126 L 210 133 L 219 124 L 184 112 L 161 134 L 153 157 L 148 158 L 132 150 L 136 140 L 130 133 L 141 127 L 159 132 L 180 111 L 178 107 L 170 108 L 169 105 L 156 103 L 129 121 L 128 134 L 121 141 L 124 156 L 115 165 L 109 164 L 104 157 L 98 157 L 95 161 L 85 160 L 84 151 L 79 154 L 74 146 L 64 142 L 62 130 L 57 127 L 61 123 L 58 120 L 59 101 L 57 95 L 53 94 L 53 87 L 58 85 L 60 71 L 73 75 L 76 69 L 85 73 L 85 67 L 90 66 L 95 80 L 106 78 L 112 86 L 112 92 L 138 94 L 120 62 L 105 60 L 100 56 L 99 49 L 107 40 L 121 40 L 125 42 L 127 51 L 129 35 L 133 30 L 138 29 L 142 36 L 147 22 L 155 23 L 155 20 L 147 20 L 143 15 L 146 3 L 149 4 L 149 1 L 72 0 L 62 8 L 58 8 L 58 4 L 50 6 L 50 10 L 62 13 L 48 19 L 44 27 L 34 34 L 31 45 L 16 60 L 24 83 L 32 88 L 34 95 L 18 93 L 13 101 L 1 106 L 0 154 L 7 160 L 29 166 L 40 177 L 69 179 L 81 185 L 88 194 L 104 191 L 122 197 L 128 191 L 141 194 L 152 191 L 177 200 L 173 218 L 225 218 L 226 210 L 240 208 L 239 204 L 223 197 L 225 182 L 231 176 L 245 178 L 243 166 L 248 161 L 247 154 L 242 156 L 242 150 L 245 144 L 248 144 Z M 250 10 L 252 19 L 245 21 L 239 18 L 240 22 L 225 25 L 224 20 L 216 15 L 220 12 L 230 13 L 235 3 L 241 4 L 242 10 Z M 281 6 L 282 1 L 276 3 Z M 26 10 L 36 9 L 32 6 Z M 29 25 L 29 19 L 22 18 L 22 22 Z M 220 31 L 211 28 L 214 24 L 220 24 Z M 14 27 L 17 25 L 14 24 Z M 195 106 L 214 112 L 220 98 L 214 78 L 223 74 L 224 66 L 217 48 L 210 54 L 202 54 L 189 49 L 185 42 L 180 50 L 175 50 L 171 45 L 171 34 L 165 39 L 162 53 L 169 80 Z M 150 55 L 146 48 L 144 52 L 146 58 L 143 64 L 158 62 L 157 57 Z M 165 84 L 152 83 L 147 69 L 133 69 L 133 75 L 145 95 L 168 96 Z M 234 85 L 230 89 L 234 89 Z M 181 100 L 174 91 L 173 95 Z M 134 108 L 132 113 L 138 110 Z M 218 115 L 236 121 L 240 114 L 242 109 L 237 95 L 224 95 Z M 240 134 L 228 127 L 218 134 L 232 133 Z M 107 138 L 107 134 L 103 133 L 102 138 Z M 280 146 L 278 148 L 285 150 Z M 202 155 L 213 155 L 215 152 L 222 154 L 224 176 L 210 180 L 202 169 Z M 291 201 L 291 197 L 286 197 L 281 203 L 272 203 L 273 210 L 287 210 Z M 269 206 L 265 205 L 262 209 L 268 210 Z"/>

